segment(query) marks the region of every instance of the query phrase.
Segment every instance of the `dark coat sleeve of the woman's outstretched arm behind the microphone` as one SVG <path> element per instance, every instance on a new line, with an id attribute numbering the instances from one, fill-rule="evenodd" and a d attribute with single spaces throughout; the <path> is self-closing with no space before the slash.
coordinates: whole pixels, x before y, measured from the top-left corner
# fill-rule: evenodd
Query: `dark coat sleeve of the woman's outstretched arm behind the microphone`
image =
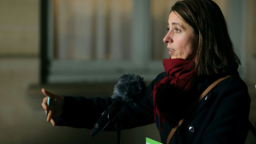
<path id="1" fill-rule="evenodd" d="M 164 72 L 160 73 L 147 86 L 145 97 L 139 104 L 123 106 L 120 113 L 122 129 L 154 123 L 151 91 L 154 88 L 154 83 L 164 77 Z M 108 105 L 111 105 L 111 97 L 87 99 L 85 97 L 64 96 L 64 111 L 58 118 L 55 118 L 56 125 L 91 129 Z M 114 123 L 110 123 L 105 130 L 115 130 Z"/>

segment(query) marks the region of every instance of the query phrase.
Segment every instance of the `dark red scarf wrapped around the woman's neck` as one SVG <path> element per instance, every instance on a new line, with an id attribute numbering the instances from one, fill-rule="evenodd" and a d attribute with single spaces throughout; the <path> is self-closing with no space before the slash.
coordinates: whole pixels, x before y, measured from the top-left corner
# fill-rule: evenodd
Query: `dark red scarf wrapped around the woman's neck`
<path id="1" fill-rule="evenodd" d="M 194 59 L 169 58 L 164 59 L 163 63 L 168 77 L 158 81 L 151 94 L 154 101 L 154 121 L 158 114 L 160 132 L 162 122 L 169 123 L 174 128 L 183 118 L 194 97 L 192 94 L 196 89 L 193 86 L 197 76 Z"/>

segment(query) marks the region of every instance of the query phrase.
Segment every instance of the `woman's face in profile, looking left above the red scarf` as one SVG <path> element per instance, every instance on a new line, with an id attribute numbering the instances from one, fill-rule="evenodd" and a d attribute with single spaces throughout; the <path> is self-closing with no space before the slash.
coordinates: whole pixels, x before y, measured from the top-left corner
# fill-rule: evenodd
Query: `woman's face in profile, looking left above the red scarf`
<path id="1" fill-rule="evenodd" d="M 198 36 L 191 26 L 183 21 L 176 12 L 171 12 L 168 18 L 168 33 L 164 36 L 168 53 L 171 58 L 192 59 L 196 56 Z"/>

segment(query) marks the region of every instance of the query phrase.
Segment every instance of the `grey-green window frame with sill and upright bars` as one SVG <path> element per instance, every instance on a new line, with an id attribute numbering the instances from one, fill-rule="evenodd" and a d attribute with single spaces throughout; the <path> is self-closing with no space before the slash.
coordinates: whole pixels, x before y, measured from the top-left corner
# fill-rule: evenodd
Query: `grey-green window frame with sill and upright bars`
<path id="1" fill-rule="evenodd" d="M 42 0 L 44 1 L 44 0 Z M 144 77 L 145 81 L 152 81 L 164 72 L 162 61 L 150 60 L 150 1 L 134 1 L 133 29 L 131 42 L 131 58 L 129 61 L 72 61 L 56 60 L 54 58 L 54 9 L 53 3 L 47 3 L 47 72 L 45 81 L 56 82 L 83 82 L 83 81 L 116 81 L 121 75 L 131 72 Z"/>

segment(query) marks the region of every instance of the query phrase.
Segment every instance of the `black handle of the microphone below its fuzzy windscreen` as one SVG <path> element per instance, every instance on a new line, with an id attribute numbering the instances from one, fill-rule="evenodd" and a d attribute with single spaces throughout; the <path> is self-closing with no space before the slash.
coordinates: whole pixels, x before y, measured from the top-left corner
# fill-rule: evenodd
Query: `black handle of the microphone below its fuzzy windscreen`
<path id="1" fill-rule="evenodd" d="M 94 137 L 97 132 L 102 132 L 111 121 L 116 119 L 123 105 L 124 102 L 122 98 L 120 96 L 116 97 L 112 104 L 103 111 L 102 116 L 97 120 L 97 123 L 95 123 L 91 131 L 92 137 Z"/>

